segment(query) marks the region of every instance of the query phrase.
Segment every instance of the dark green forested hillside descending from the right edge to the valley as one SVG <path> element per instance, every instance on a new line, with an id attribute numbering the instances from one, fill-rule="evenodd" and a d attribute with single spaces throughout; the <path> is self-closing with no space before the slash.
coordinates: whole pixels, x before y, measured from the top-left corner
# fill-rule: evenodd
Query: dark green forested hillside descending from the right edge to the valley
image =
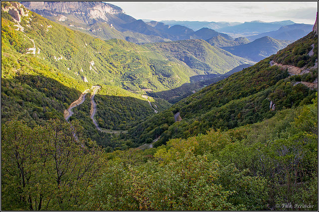
<path id="1" fill-rule="evenodd" d="M 290 76 L 287 70 L 271 66 L 270 61 L 276 60 L 283 53 L 289 54 L 286 58 L 291 58 L 293 54 L 290 52 L 293 52 L 296 54 L 296 64 L 313 67 L 318 53 L 313 51 L 313 55 L 307 54 L 313 49 L 312 45 L 317 43 L 318 37 L 311 32 L 277 55 L 209 85 L 180 100 L 170 109 L 156 114 L 130 130 L 130 139 L 143 143 L 149 137 L 157 139 L 160 136 L 154 144 L 160 146 L 171 138 L 205 134 L 210 128 L 233 129 L 271 118 L 277 111 L 311 103 L 316 89 L 308 88 L 300 81 L 302 78 L 315 81 L 318 68 L 315 66 L 308 73 Z M 182 119 L 179 122 L 174 120 L 177 112 L 180 112 Z"/>

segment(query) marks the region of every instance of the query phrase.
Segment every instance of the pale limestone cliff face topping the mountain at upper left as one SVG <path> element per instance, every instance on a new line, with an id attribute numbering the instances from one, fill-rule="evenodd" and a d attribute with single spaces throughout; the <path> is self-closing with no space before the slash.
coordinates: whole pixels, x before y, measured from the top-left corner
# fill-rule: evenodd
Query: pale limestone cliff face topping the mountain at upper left
<path id="1" fill-rule="evenodd" d="M 43 15 L 74 14 L 89 19 L 108 20 L 107 14 L 124 13 L 122 8 L 101 1 L 22 1 L 28 9 Z M 42 14 L 41 14 L 42 15 Z M 85 21 L 90 23 L 90 20 Z"/>

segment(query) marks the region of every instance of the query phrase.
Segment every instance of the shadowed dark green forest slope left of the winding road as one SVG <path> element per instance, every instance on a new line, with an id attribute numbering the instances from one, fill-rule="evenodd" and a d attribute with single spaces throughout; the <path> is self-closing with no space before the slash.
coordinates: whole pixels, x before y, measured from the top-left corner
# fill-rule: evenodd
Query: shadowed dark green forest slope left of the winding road
<path id="1" fill-rule="evenodd" d="M 45 85 L 45 86 L 43 86 Z M 1 79 L 1 120 L 18 118 L 29 126 L 63 119 L 64 110 L 80 92 L 43 75 L 17 75 Z"/>

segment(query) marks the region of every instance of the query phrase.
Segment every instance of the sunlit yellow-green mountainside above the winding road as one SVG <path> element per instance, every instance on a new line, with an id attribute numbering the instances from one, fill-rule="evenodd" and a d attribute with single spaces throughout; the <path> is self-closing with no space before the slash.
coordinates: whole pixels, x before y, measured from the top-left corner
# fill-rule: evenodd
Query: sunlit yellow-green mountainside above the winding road
<path id="1" fill-rule="evenodd" d="M 3 33 L 17 29 L 17 26 L 13 25 L 3 21 Z M 31 11 L 21 17 L 18 25 L 21 26 L 19 32 L 22 32 L 20 37 L 23 44 L 20 44 L 22 40 L 19 44 L 11 44 L 4 39 L 4 48 L 13 45 L 19 53 L 29 53 L 41 61 L 48 61 L 75 79 L 92 84 L 114 85 L 132 91 L 168 90 L 189 82 L 190 76 L 205 72 L 224 73 L 244 63 L 233 59 L 233 56 L 222 50 L 219 50 L 218 54 L 211 51 L 209 48 L 212 47 L 202 44 L 202 41 L 190 42 L 193 43 L 192 47 L 196 46 L 194 51 L 198 50 L 204 54 L 198 58 L 204 61 L 204 65 L 200 65 L 204 68 L 201 69 L 197 67 L 198 59 L 193 60 L 193 57 L 182 56 L 184 59 L 181 60 L 190 59 L 186 64 L 178 61 L 179 58 L 169 60 L 170 55 L 148 49 L 147 46 L 119 39 L 103 41 L 71 30 Z M 183 50 L 179 48 L 178 51 Z M 179 55 L 183 53 L 180 52 Z M 208 58 L 210 59 L 207 60 Z"/>

